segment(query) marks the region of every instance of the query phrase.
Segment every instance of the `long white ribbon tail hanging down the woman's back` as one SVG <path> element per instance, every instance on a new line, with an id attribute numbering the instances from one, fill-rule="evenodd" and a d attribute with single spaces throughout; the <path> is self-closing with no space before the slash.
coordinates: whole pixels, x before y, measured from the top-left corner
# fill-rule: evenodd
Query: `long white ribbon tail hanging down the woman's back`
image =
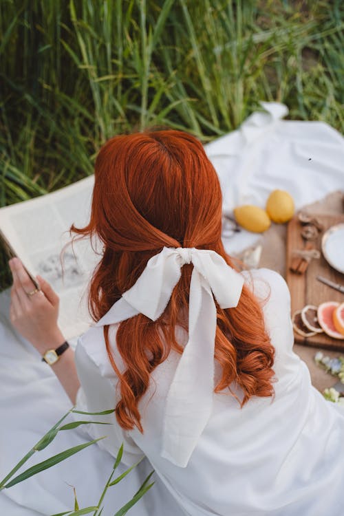
<path id="1" fill-rule="evenodd" d="M 166 398 L 162 451 L 186 467 L 213 409 L 216 307 L 213 294 L 194 268 L 189 299 L 189 341 Z"/>

